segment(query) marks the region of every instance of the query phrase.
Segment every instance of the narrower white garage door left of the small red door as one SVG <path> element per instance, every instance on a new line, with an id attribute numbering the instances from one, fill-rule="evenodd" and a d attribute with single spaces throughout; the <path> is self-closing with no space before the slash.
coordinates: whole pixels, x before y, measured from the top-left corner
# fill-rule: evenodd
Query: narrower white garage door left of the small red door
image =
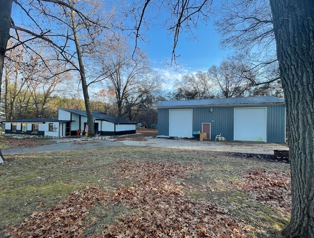
<path id="1" fill-rule="evenodd" d="M 192 136 L 192 109 L 169 110 L 169 136 Z"/>

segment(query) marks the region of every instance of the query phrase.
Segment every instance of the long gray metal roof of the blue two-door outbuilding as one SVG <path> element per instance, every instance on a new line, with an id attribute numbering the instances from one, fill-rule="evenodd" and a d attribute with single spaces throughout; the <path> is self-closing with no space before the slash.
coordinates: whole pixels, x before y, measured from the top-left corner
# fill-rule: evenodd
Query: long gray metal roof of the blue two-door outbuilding
<path id="1" fill-rule="evenodd" d="M 186 106 L 236 106 L 236 105 L 285 105 L 285 99 L 274 96 L 246 97 L 246 98 L 217 98 L 217 99 L 194 99 L 179 101 L 161 101 L 155 107 L 186 107 Z"/>

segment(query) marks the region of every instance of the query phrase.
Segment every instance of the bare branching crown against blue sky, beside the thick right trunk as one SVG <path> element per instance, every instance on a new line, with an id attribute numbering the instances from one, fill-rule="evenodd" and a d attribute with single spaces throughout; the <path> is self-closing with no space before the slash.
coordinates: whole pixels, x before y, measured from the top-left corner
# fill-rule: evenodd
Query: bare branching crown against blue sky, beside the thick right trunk
<path id="1" fill-rule="evenodd" d="M 221 46 L 234 49 L 235 60 L 254 72 L 252 83 L 280 79 L 269 0 L 223 0 L 217 12 Z"/>

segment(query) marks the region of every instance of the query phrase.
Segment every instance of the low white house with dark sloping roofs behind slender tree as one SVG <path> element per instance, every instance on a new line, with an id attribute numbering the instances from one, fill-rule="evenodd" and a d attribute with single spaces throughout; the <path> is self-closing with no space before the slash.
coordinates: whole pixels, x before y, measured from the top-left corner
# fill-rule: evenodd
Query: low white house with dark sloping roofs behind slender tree
<path id="1" fill-rule="evenodd" d="M 135 122 L 95 111 L 92 114 L 96 134 L 122 135 L 135 133 Z M 85 133 L 86 122 L 86 111 L 59 107 L 58 118 L 6 121 L 5 132 L 65 137 L 77 135 L 78 130 Z"/>

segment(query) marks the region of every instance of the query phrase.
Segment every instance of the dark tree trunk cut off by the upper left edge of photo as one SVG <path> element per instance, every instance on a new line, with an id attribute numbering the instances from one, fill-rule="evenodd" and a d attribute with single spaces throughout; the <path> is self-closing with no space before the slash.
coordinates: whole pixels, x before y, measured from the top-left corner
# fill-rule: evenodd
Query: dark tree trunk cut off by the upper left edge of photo
<path id="1" fill-rule="evenodd" d="M 4 66 L 4 57 L 6 46 L 10 38 L 11 28 L 11 9 L 12 0 L 0 0 L 0 100 L 1 100 L 1 81 Z M 3 156 L 0 151 L 0 163 L 3 162 Z"/>

